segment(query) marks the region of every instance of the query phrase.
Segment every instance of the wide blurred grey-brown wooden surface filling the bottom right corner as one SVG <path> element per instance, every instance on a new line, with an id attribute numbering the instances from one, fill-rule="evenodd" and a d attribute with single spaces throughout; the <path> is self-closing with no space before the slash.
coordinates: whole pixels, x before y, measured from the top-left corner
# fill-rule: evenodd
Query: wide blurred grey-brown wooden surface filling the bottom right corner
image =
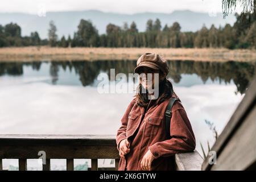
<path id="1" fill-rule="evenodd" d="M 211 170 L 246 170 L 256 162 L 256 105 L 217 156 Z"/>

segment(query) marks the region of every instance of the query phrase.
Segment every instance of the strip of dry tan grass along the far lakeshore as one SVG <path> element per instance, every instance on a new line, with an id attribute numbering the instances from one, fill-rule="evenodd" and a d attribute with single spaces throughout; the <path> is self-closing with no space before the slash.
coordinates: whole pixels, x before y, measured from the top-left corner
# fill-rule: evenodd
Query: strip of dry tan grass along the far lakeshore
<path id="1" fill-rule="evenodd" d="M 145 52 L 155 52 L 167 60 L 255 61 L 256 50 L 225 48 L 0 48 L 0 61 L 51 60 L 137 60 Z"/>

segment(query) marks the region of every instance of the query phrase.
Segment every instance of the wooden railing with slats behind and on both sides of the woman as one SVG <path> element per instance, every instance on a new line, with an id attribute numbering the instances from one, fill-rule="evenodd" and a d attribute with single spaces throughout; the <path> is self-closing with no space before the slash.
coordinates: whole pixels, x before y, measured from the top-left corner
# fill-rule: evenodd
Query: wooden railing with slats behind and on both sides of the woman
<path id="1" fill-rule="evenodd" d="M 40 152 L 41 151 L 41 152 Z M 27 170 L 27 159 L 45 154 L 43 171 L 51 169 L 50 159 L 67 159 L 67 170 L 73 171 L 74 159 L 91 159 L 91 170 L 98 170 L 98 159 L 114 159 L 118 169 L 119 155 L 114 135 L 0 135 L 0 170 L 2 159 L 19 159 L 19 170 Z M 199 170 L 201 156 L 192 153 L 175 156 L 177 170 Z"/>

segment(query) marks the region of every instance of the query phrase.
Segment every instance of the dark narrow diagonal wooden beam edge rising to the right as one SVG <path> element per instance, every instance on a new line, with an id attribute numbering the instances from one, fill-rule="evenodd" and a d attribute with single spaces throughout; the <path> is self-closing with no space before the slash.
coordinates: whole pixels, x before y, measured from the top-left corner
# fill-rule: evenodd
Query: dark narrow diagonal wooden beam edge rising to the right
<path id="1" fill-rule="evenodd" d="M 234 111 L 234 114 L 230 118 L 228 124 L 225 126 L 224 130 L 214 143 L 213 147 L 211 148 L 211 151 L 216 151 L 217 156 L 221 154 L 221 151 L 225 148 L 228 141 L 233 137 L 233 134 L 236 132 L 236 130 L 240 127 L 243 120 L 246 118 L 247 114 L 250 113 L 251 108 L 254 107 L 256 103 L 256 76 L 254 80 L 251 82 L 251 85 L 246 90 L 245 96 L 243 97 L 243 100 L 238 105 L 236 111 Z M 202 164 L 203 170 L 209 170 L 212 165 L 209 165 L 209 157 L 204 160 Z"/>

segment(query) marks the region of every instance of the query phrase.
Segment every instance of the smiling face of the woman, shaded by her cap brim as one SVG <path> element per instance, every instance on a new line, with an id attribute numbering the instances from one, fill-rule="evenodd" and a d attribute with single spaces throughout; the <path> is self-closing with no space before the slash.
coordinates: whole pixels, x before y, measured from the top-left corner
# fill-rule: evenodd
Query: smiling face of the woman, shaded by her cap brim
<path id="1" fill-rule="evenodd" d="M 139 75 L 141 75 L 141 73 L 144 73 L 139 77 L 139 83 L 143 86 L 144 89 L 154 88 L 154 84 L 155 84 L 155 74 L 154 73 L 159 74 L 158 69 L 141 67 L 139 69 L 138 73 L 139 73 Z M 148 74 L 148 73 L 151 73 L 151 74 Z M 160 75 L 156 78 L 160 78 Z"/>

